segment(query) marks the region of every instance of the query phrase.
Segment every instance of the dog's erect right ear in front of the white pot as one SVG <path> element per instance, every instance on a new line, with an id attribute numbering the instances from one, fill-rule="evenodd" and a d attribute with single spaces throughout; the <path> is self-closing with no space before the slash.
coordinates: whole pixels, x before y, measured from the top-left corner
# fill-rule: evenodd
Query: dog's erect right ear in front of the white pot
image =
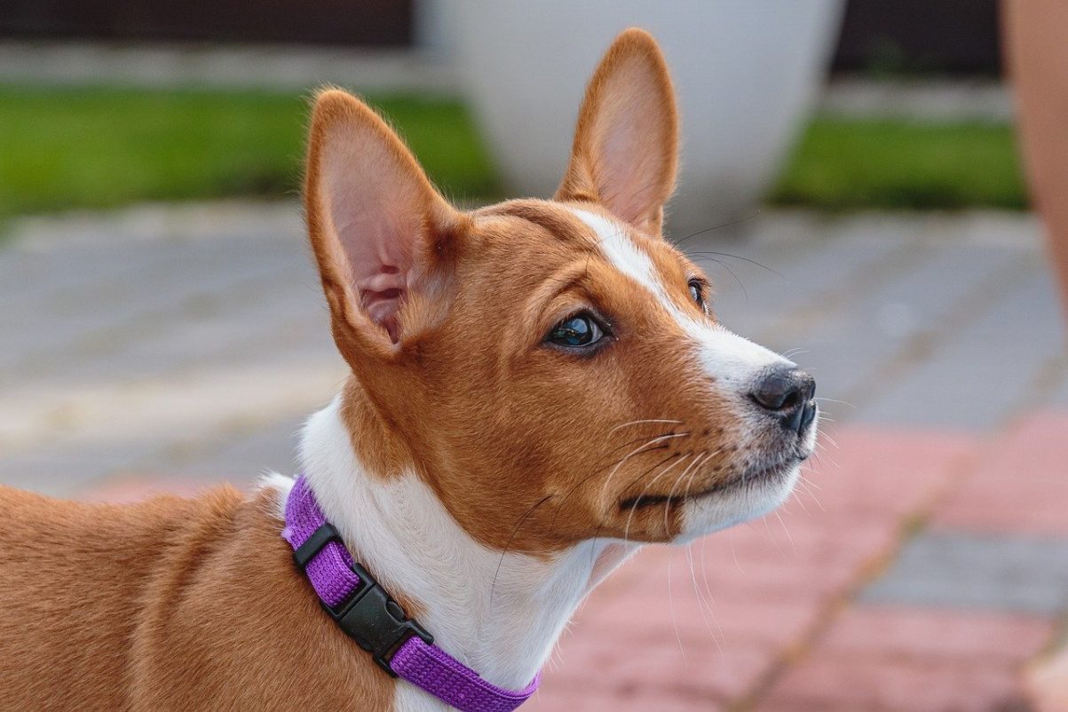
<path id="1" fill-rule="evenodd" d="M 677 167 L 678 114 L 668 65 L 648 32 L 625 30 L 586 86 L 555 199 L 600 203 L 656 235 Z"/>

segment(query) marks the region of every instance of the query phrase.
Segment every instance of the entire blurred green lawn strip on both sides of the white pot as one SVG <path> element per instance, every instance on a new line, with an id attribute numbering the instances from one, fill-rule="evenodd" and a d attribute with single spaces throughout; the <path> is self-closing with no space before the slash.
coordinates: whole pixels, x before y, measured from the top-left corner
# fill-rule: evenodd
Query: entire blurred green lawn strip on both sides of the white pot
<path id="1" fill-rule="evenodd" d="M 376 95 L 450 196 L 498 193 L 456 99 Z M 307 97 L 0 83 L 0 220 L 137 201 L 297 195 Z M 1011 126 L 817 116 L 772 203 L 817 209 L 1026 207 Z"/>

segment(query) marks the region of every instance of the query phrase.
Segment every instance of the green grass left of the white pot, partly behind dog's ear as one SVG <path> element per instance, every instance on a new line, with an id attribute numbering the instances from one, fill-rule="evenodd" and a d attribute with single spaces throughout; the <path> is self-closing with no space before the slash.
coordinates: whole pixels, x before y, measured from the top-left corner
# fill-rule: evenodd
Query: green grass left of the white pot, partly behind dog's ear
<path id="1" fill-rule="evenodd" d="M 457 100 L 371 96 L 453 197 L 492 194 Z M 307 97 L 0 84 L 0 218 L 136 201 L 299 192 Z"/>

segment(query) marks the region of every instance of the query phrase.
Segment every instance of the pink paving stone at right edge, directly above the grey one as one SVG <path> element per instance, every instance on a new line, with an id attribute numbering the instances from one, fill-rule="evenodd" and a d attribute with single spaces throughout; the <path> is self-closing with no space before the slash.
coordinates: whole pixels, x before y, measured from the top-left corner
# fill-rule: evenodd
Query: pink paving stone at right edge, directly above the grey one
<path id="1" fill-rule="evenodd" d="M 1028 416 L 983 450 L 934 515 L 956 528 L 1068 537 L 1068 413 Z"/>

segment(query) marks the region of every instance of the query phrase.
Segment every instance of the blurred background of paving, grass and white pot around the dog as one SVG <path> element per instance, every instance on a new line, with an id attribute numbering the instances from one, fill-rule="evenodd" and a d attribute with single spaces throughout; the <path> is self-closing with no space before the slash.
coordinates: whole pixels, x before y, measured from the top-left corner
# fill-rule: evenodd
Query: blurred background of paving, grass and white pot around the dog
<path id="1" fill-rule="evenodd" d="M 529 707 L 1063 712 L 1068 355 L 1007 17 L 6 0 L 0 481 L 129 501 L 294 472 L 346 373 L 297 202 L 312 91 L 362 93 L 462 205 L 548 195 L 598 57 L 639 25 L 682 110 L 668 231 L 721 320 L 817 377 L 829 425 L 783 511 L 598 589 Z M 1028 146 L 1039 190 L 1061 126 Z"/>

